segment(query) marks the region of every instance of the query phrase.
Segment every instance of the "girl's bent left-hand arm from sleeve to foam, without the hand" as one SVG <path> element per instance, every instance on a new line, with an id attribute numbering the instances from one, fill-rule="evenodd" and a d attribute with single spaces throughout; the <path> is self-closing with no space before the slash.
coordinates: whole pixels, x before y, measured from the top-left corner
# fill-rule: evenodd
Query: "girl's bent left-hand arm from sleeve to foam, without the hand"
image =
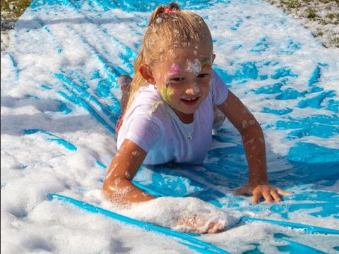
<path id="1" fill-rule="evenodd" d="M 146 155 L 147 153 L 131 140 L 124 140 L 107 169 L 102 186 L 105 198 L 121 205 L 154 199 L 131 183 Z"/>

